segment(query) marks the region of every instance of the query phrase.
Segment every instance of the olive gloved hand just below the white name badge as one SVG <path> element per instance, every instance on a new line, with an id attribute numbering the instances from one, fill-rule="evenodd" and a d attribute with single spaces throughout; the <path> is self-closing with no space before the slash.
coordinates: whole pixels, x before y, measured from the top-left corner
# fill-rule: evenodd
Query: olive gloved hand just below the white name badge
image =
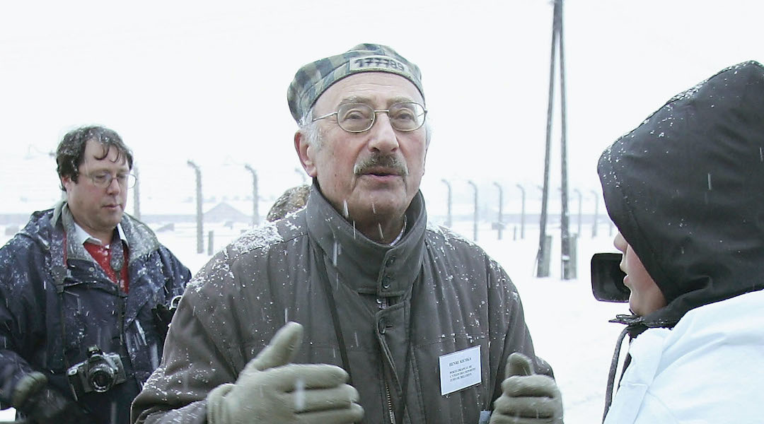
<path id="1" fill-rule="evenodd" d="M 562 424 L 562 397 L 554 379 L 533 372 L 522 353 L 507 360 L 501 396 L 494 402 L 490 424 Z"/>

